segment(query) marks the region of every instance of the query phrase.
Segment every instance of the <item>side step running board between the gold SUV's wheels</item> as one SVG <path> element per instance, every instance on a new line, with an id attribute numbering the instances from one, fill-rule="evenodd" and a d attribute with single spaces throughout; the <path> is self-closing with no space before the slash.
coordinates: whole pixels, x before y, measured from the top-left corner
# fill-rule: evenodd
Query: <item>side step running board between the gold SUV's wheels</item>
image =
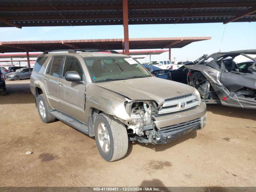
<path id="1" fill-rule="evenodd" d="M 52 114 L 58 120 L 61 120 L 61 121 L 65 122 L 66 124 L 74 127 L 75 129 L 77 129 L 85 134 L 89 134 L 88 127 L 85 124 L 83 124 L 82 122 L 80 122 L 62 112 L 56 111 L 56 110 L 51 110 L 50 114 Z"/>

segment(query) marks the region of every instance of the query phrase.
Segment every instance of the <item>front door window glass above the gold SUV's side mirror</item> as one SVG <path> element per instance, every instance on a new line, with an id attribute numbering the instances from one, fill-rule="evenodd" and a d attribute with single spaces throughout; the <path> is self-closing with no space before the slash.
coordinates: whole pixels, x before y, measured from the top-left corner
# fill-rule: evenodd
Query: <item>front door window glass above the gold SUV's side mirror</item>
<path id="1" fill-rule="evenodd" d="M 79 61 L 76 58 L 66 57 L 65 64 L 63 68 L 63 77 L 68 71 L 76 71 L 79 73 L 80 77 L 83 78 L 84 72 L 80 66 Z"/>

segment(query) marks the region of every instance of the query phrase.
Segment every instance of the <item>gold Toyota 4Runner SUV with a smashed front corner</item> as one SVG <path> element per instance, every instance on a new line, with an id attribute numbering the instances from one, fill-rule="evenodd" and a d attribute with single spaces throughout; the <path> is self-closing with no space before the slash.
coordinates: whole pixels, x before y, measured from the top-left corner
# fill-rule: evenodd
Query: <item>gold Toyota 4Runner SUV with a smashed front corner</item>
<path id="1" fill-rule="evenodd" d="M 188 85 L 153 77 L 130 56 L 105 50 L 40 54 L 30 78 L 39 116 L 95 136 L 107 161 L 128 141 L 166 144 L 206 125 L 206 104 Z"/>

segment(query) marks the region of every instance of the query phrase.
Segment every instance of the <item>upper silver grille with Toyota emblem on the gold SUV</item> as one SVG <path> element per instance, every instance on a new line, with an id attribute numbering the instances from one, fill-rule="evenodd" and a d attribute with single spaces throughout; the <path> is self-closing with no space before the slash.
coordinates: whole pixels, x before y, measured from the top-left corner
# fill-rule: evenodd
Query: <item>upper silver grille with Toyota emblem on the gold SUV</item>
<path id="1" fill-rule="evenodd" d="M 166 99 L 158 110 L 158 114 L 169 114 L 182 110 L 194 108 L 200 104 L 198 98 L 194 94 L 186 94 L 182 96 Z"/>

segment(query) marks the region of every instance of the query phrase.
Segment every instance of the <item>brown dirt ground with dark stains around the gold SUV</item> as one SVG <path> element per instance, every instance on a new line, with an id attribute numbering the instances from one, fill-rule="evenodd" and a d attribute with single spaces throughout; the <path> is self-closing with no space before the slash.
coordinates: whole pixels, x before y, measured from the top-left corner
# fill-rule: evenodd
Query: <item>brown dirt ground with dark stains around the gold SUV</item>
<path id="1" fill-rule="evenodd" d="M 104 161 L 94 138 L 38 115 L 29 80 L 0 96 L 0 186 L 256 186 L 255 110 L 208 105 L 207 126 Z M 32 151 L 26 155 L 26 151 Z"/>

